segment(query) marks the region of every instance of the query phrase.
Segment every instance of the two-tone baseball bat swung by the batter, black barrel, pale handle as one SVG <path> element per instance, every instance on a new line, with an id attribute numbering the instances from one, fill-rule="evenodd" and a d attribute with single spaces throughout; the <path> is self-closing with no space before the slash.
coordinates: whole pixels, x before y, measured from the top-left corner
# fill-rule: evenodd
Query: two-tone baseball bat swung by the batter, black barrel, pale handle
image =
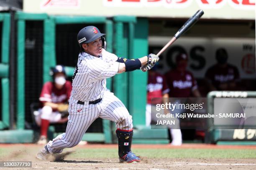
<path id="1" fill-rule="evenodd" d="M 184 32 L 186 32 L 187 30 L 189 30 L 189 28 L 191 28 L 204 14 L 203 10 L 198 10 L 191 18 L 189 18 L 187 20 L 186 23 L 184 23 L 184 25 L 182 26 L 182 28 L 180 28 L 178 30 L 178 32 L 176 32 L 176 34 L 174 35 L 174 37 L 172 37 L 172 39 L 157 53 L 157 55 L 161 55 L 162 52 L 164 52 L 164 50 L 166 50 L 166 48 L 168 48 L 170 45 L 172 45 L 172 43 L 177 40 L 182 34 L 184 34 Z"/>

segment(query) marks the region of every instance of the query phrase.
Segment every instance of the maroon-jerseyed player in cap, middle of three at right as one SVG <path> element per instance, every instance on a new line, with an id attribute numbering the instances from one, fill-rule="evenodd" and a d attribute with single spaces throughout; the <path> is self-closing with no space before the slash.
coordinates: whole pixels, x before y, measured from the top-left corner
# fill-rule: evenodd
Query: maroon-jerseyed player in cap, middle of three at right
<path id="1" fill-rule="evenodd" d="M 180 53 L 176 57 L 177 67 L 174 70 L 170 70 L 165 74 L 167 85 L 170 88 L 169 97 L 201 97 L 199 90 L 197 89 L 197 82 L 192 74 L 187 70 L 187 54 Z M 176 101 L 179 102 L 179 101 Z M 174 110 L 176 113 L 182 113 L 184 110 Z M 173 145 L 179 145 L 182 142 L 182 134 L 180 129 L 174 129 L 171 131 L 172 136 L 177 136 L 172 143 Z"/>

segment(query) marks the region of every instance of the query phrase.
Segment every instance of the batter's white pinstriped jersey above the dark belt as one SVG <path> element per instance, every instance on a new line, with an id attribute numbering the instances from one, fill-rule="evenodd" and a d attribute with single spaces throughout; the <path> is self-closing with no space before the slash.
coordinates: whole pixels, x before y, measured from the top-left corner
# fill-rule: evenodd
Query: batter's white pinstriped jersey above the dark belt
<path id="1" fill-rule="evenodd" d="M 93 101 L 102 98 L 106 90 L 106 78 L 118 73 L 118 57 L 102 49 L 102 55 L 94 57 L 82 52 L 79 54 L 74 71 L 71 95 L 80 101 Z"/>

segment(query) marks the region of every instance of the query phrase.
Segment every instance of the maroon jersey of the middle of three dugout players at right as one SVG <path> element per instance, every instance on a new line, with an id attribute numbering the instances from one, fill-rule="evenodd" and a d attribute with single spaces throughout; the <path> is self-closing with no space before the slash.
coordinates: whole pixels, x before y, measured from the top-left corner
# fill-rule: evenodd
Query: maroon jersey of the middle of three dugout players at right
<path id="1" fill-rule="evenodd" d="M 169 85 L 169 97 L 190 97 L 191 92 L 197 89 L 197 82 L 191 72 L 171 70 L 165 74 Z"/>

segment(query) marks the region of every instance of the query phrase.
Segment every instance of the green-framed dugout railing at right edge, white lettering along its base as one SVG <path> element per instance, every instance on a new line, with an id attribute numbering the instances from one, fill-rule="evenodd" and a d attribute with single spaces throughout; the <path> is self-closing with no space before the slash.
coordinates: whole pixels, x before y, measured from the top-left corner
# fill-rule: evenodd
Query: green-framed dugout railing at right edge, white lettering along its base
<path id="1" fill-rule="evenodd" d="M 217 98 L 226 98 L 226 99 L 254 99 L 256 98 L 255 91 L 212 91 L 207 95 L 207 113 L 215 114 L 214 100 Z M 234 103 L 231 107 L 236 108 L 236 105 L 241 104 L 239 102 Z M 250 108 L 253 109 L 256 104 L 248 102 Z M 230 106 L 226 106 L 230 107 Z M 255 108 L 254 108 L 255 109 Z M 225 109 L 226 110 L 226 109 Z M 237 109 L 232 109 L 236 111 Z M 237 110 L 239 112 L 239 110 Z M 243 110 L 243 112 L 246 112 Z M 256 112 L 255 112 L 256 113 Z M 255 122 L 255 117 L 247 117 L 250 121 Z M 246 119 L 245 119 L 246 121 Z M 256 144 L 256 122 L 253 125 L 216 125 L 217 122 L 214 122 L 214 119 L 207 120 L 207 130 L 205 133 L 205 143 L 214 143 L 214 144 Z"/>

